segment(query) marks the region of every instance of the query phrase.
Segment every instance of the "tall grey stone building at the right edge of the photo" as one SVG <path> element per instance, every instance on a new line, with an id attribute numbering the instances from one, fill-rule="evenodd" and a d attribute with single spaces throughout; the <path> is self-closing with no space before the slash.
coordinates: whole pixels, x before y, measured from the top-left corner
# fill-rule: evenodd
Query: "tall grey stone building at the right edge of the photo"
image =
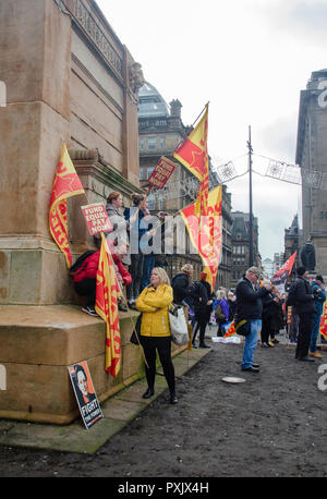
<path id="1" fill-rule="evenodd" d="M 315 71 L 301 90 L 296 165 L 302 174 L 301 247 L 311 238 L 316 269 L 327 273 L 327 70 Z"/>

